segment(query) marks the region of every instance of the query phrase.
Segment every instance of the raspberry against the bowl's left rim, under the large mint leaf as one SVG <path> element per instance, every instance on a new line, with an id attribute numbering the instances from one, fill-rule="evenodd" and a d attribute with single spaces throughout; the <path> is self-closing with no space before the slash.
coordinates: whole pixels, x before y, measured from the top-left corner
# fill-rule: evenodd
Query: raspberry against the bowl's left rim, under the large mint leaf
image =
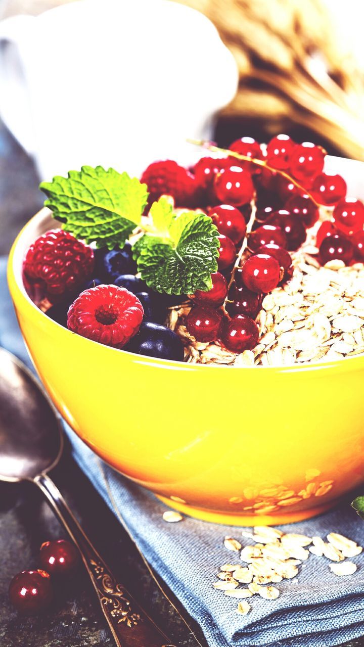
<path id="1" fill-rule="evenodd" d="M 44 281 L 49 294 L 63 294 L 82 285 L 93 265 L 91 247 L 69 232 L 53 229 L 30 245 L 23 269 L 28 278 Z"/>

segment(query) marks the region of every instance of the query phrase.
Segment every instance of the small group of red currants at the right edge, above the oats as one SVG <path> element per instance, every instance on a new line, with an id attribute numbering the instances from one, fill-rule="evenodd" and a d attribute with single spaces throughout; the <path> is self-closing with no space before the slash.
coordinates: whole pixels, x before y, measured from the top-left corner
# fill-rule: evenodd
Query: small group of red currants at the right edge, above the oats
<path id="1" fill-rule="evenodd" d="M 364 262 L 364 204 L 354 198 L 345 198 L 336 204 L 332 220 L 319 228 L 316 239 L 321 263 L 331 260 Z"/>

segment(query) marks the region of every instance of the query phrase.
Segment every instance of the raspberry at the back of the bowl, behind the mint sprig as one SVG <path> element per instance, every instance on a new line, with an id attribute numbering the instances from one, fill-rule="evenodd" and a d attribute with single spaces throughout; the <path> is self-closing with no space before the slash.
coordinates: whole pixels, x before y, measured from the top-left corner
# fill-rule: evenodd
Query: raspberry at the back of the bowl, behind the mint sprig
<path id="1" fill-rule="evenodd" d="M 141 182 L 148 186 L 148 203 L 161 195 L 172 195 L 176 206 L 198 206 L 198 183 L 190 171 L 173 160 L 153 162 L 144 171 Z"/>

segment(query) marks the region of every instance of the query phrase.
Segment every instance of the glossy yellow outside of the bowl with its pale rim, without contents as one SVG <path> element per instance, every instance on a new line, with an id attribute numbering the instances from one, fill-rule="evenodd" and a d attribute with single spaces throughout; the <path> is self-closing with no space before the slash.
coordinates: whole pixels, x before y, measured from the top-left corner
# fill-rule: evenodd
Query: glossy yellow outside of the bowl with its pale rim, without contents
<path id="1" fill-rule="evenodd" d="M 87 340 L 23 287 L 25 251 L 52 226 L 42 210 L 17 237 L 10 292 L 51 399 L 105 461 L 187 514 L 244 525 L 319 514 L 363 481 L 364 356 L 193 366 Z"/>

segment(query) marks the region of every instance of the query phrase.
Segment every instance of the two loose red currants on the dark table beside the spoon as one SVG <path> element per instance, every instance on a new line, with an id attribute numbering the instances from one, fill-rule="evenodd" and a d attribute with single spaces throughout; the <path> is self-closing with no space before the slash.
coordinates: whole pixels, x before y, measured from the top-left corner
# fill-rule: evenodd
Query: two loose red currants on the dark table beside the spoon
<path id="1" fill-rule="evenodd" d="M 72 575 L 80 558 L 73 543 L 60 539 L 40 547 L 41 569 L 22 571 L 12 578 L 9 599 L 21 613 L 40 613 L 51 604 L 52 578 Z"/>

